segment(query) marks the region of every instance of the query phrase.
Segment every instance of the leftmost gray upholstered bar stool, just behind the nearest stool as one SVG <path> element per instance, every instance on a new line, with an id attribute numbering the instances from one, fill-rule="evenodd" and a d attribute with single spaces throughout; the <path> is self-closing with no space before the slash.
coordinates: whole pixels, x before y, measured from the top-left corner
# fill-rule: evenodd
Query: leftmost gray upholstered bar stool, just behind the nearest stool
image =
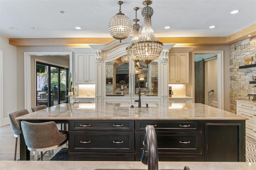
<path id="1" fill-rule="evenodd" d="M 16 160 L 18 137 L 20 137 L 20 121 L 17 121 L 16 117 L 20 117 L 20 116 L 26 115 L 28 113 L 29 113 L 28 110 L 24 109 L 24 110 L 16 111 L 16 112 L 9 114 L 10 126 L 12 128 L 14 137 L 16 138 L 14 160 Z"/>

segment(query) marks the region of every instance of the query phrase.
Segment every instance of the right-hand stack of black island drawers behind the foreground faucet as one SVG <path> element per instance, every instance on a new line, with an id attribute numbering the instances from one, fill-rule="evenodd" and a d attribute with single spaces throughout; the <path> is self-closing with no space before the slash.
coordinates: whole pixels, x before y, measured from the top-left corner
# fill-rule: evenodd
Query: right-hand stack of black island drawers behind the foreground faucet
<path id="1" fill-rule="evenodd" d="M 154 126 L 159 161 L 202 161 L 201 121 L 135 121 L 135 160 L 140 161 L 145 127 Z"/>

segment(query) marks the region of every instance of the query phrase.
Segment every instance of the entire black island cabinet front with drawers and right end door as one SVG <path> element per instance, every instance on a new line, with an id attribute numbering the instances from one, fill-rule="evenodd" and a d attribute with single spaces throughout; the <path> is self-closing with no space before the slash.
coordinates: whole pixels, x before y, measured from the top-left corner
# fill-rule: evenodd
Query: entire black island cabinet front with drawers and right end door
<path id="1" fill-rule="evenodd" d="M 245 120 L 70 120 L 69 160 L 140 161 L 147 125 L 159 161 L 245 162 Z"/>

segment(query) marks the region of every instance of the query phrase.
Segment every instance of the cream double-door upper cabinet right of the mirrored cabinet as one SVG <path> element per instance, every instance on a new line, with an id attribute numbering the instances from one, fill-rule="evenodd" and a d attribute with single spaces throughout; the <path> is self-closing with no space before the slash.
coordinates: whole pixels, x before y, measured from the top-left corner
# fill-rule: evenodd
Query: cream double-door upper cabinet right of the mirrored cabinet
<path id="1" fill-rule="evenodd" d="M 189 83 L 188 52 L 169 53 L 169 83 Z"/>

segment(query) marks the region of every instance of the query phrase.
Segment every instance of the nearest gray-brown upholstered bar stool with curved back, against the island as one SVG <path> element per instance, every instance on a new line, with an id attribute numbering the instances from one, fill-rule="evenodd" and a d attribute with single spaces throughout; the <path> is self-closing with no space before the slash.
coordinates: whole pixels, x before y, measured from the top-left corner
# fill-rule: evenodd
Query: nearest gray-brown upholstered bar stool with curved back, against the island
<path id="1" fill-rule="evenodd" d="M 21 128 L 28 150 L 43 152 L 62 146 L 68 140 L 68 132 L 58 130 L 55 122 L 30 123 L 21 121 Z"/>

